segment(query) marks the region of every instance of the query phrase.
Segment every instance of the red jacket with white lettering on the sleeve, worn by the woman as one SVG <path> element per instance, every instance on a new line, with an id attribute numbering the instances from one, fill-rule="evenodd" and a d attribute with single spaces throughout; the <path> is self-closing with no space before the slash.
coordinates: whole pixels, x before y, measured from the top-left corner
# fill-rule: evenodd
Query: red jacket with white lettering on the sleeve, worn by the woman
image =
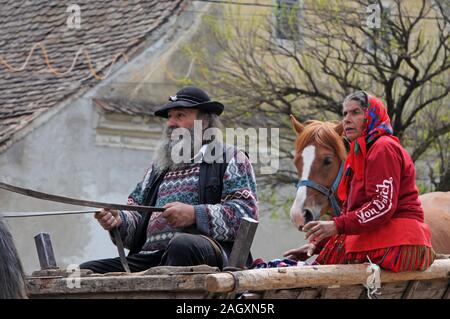
<path id="1" fill-rule="evenodd" d="M 423 223 L 414 164 L 399 143 L 378 138 L 367 151 L 364 174 L 364 180 L 350 177 L 342 214 L 334 218 L 340 234 L 371 232 L 392 218 Z"/>

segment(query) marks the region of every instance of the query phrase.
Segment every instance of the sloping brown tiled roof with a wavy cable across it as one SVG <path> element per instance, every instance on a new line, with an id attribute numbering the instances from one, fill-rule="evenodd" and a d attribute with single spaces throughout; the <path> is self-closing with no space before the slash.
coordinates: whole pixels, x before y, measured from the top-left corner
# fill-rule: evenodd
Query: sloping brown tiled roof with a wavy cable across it
<path id="1" fill-rule="evenodd" d="M 0 0 L 0 152 L 36 117 L 99 83 L 121 54 L 132 56 L 183 2 Z M 79 29 L 68 27 L 72 3 Z"/>

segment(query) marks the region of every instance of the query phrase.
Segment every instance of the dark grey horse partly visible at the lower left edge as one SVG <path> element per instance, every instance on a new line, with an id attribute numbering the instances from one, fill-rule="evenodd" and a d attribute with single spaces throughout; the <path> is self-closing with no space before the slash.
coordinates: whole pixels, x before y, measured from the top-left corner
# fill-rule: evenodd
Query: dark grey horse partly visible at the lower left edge
<path id="1" fill-rule="evenodd" d="M 25 273 L 11 233 L 0 216 L 0 299 L 27 298 Z"/>

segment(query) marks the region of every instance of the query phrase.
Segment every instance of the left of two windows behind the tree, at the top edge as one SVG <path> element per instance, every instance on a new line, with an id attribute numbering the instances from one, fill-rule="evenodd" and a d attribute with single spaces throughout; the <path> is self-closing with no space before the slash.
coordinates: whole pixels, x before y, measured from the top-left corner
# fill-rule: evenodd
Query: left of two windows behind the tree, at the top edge
<path id="1" fill-rule="evenodd" d="M 300 5 L 303 1 L 276 0 L 275 36 L 280 40 L 296 40 L 300 32 Z"/>

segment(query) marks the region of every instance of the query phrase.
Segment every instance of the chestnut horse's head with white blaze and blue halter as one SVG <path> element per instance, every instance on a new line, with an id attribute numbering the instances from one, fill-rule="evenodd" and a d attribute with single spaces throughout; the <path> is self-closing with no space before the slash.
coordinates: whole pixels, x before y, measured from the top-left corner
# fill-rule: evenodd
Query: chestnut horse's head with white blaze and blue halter
<path id="1" fill-rule="evenodd" d="M 301 229 L 330 209 L 331 199 L 325 193 L 336 184 L 347 154 L 342 124 L 307 121 L 303 125 L 292 115 L 291 121 L 297 134 L 294 163 L 300 180 L 291 207 L 291 221 Z"/>

